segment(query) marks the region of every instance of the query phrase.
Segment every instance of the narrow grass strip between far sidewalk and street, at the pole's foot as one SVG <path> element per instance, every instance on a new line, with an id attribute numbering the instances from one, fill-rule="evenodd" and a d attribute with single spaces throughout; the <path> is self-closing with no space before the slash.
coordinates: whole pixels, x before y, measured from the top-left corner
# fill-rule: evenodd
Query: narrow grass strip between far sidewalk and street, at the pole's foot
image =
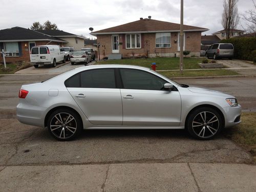
<path id="1" fill-rule="evenodd" d="M 172 78 L 172 77 L 197 77 L 197 76 L 223 76 L 223 75 L 239 75 L 239 73 L 231 70 L 217 69 L 217 70 L 193 70 L 183 71 L 183 75 L 179 71 L 158 71 L 158 73 Z"/>

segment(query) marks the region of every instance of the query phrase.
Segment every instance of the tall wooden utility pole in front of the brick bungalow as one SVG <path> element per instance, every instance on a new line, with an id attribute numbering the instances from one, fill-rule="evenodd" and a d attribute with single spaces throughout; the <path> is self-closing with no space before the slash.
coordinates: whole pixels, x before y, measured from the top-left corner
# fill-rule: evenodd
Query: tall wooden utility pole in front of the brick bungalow
<path id="1" fill-rule="evenodd" d="M 180 74 L 183 74 L 183 0 L 180 1 Z"/>

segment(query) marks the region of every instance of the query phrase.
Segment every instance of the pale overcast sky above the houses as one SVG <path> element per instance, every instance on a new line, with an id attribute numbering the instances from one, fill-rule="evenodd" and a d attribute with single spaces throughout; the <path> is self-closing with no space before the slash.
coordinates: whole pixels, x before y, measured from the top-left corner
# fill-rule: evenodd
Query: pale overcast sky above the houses
<path id="1" fill-rule="evenodd" d="M 55 23 L 60 30 L 94 37 L 93 31 L 139 20 L 140 17 L 180 23 L 180 0 L 0 0 L 0 30 L 30 28 L 33 22 Z M 184 25 L 222 30 L 223 0 L 184 0 Z M 240 14 L 252 8 L 251 0 L 239 0 Z M 243 20 L 240 19 L 243 25 Z M 238 29 L 242 29 L 241 26 Z"/>

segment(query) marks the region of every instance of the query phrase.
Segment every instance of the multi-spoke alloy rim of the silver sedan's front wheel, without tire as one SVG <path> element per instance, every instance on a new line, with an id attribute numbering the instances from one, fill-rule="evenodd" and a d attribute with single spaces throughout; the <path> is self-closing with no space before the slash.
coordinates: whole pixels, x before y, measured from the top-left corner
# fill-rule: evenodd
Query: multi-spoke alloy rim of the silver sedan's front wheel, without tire
<path id="1" fill-rule="evenodd" d="M 192 122 L 194 133 L 201 138 L 210 138 L 214 136 L 220 127 L 218 117 L 211 112 L 200 112 L 195 116 Z"/>

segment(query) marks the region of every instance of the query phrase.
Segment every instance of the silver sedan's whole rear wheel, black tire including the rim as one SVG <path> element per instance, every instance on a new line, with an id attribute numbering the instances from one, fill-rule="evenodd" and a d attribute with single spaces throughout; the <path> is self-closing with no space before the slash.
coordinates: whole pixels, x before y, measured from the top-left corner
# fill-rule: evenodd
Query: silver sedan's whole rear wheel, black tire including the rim
<path id="1" fill-rule="evenodd" d="M 82 131 L 80 117 L 69 109 L 54 111 L 47 122 L 48 131 L 59 141 L 69 141 L 77 137 Z"/>

